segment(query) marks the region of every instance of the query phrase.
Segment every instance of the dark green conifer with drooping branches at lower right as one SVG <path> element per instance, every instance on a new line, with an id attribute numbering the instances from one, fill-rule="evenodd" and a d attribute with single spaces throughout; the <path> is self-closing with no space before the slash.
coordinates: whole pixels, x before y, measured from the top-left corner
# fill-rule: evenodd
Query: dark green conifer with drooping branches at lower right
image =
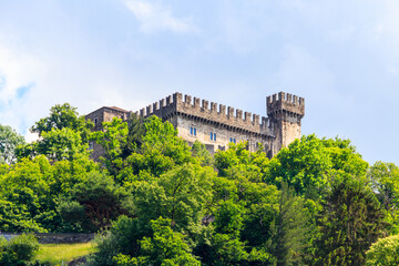
<path id="1" fill-rule="evenodd" d="M 365 178 L 334 176 L 319 218 L 316 265 L 364 265 L 366 252 L 387 224 L 379 202 Z"/>

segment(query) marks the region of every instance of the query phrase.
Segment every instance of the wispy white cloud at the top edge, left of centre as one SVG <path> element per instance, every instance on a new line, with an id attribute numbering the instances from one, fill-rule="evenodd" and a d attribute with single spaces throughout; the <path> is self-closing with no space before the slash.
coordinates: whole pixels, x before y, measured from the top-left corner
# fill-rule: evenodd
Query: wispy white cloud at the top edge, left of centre
<path id="1" fill-rule="evenodd" d="M 150 3 L 143 0 L 125 0 L 129 10 L 141 23 L 141 30 L 150 33 L 158 30 L 170 30 L 175 33 L 196 31 L 190 18 L 178 19 L 160 3 Z"/>

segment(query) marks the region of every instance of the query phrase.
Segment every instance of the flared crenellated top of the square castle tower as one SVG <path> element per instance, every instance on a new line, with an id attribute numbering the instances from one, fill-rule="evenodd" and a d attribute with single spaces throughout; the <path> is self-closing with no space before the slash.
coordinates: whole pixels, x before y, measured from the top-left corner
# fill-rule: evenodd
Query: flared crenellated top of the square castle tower
<path id="1" fill-rule="evenodd" d="M 279 92 L 266 98 L 267 115 L 288 113 L 303 117 L 305 115 L 305 99 L 290 93 Z"/>

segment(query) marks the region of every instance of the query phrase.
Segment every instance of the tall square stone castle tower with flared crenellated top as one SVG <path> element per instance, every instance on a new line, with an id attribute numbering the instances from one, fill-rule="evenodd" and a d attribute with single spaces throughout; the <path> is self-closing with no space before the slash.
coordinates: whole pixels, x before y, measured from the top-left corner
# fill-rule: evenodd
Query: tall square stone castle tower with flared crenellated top
<path id="1" fill-rule="evenodd" d="M 300 120 L 305 115 L 305 99 L 279 92 L 266 99 L 267 116 L 276 141 L 273 154 L 300 139 Z"/>

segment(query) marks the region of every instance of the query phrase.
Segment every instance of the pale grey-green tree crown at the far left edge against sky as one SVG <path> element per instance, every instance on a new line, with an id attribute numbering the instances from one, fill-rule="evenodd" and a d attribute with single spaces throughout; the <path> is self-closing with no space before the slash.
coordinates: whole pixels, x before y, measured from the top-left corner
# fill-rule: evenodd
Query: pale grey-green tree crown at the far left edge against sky
<path id="1" fill-rule="evenodd" d="M 24 143 L 23 136 L 18 134 L 11 126 L 0 124 L 0 164 L 14 163 L 17 160 L 16 149 Z"/>

